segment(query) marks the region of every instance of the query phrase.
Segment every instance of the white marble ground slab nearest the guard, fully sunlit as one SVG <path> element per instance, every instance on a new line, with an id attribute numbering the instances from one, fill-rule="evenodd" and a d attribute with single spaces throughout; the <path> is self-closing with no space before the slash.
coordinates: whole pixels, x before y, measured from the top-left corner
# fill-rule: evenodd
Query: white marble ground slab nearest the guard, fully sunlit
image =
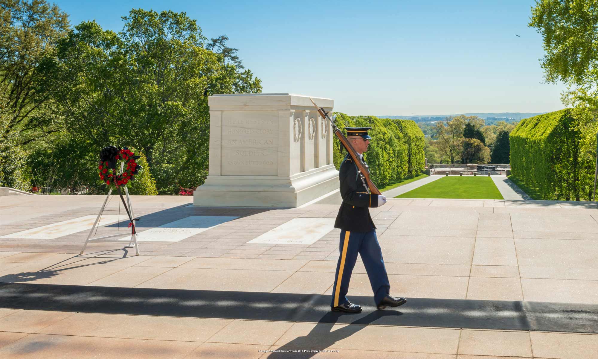
<path id="1" fill-rule="evenodd" d="M 334 228 L 334 218 L 293 218 L 248 243 L 314 244 Z"/>

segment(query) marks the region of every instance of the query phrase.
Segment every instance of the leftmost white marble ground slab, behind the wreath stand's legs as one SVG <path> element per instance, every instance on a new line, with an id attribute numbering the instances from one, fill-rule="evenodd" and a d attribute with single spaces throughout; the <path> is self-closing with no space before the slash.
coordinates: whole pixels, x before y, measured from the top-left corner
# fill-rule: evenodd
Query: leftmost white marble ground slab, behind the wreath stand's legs
<path id="1" fill-rule="evenodd" d="M 91 227 L 93 227 L 93 223 L 96 221 L 96 218 L 97 214 L 84 215 L 83 217 L 73 218 L 72 220 L 66 220 L 54 224 L 48 224 L 47 226 L 23 230 L 21 232 L 5 235 L 0 238 L 55 239 L 91 229 Z M 118 222 L 119 218 L 120 220 L 125 220 L 126 216 L 112 214 L 102 215 L 99 226 L 105 226 L 106 224 Z"/>

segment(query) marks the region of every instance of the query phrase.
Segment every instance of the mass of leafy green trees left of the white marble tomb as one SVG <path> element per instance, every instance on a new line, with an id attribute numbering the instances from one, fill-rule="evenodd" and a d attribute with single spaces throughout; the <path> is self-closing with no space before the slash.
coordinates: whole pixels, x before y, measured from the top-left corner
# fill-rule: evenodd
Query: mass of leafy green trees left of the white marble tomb
<path id="1" fill-rule="evenodd" d="M 33 176 L 101 190 L 90 163 L 109 144 L 147 158 L 142 193 L 155 193 L 153 179 L 160 194 L 203 183 L 208 96 L 259 93 L 261 80 L 227 36 L 208 41 L 184 12 L 134 8 L 122 19 L 120 32 L 93 21 L 70 28 L 45 0 L 0 2 L 2 185 L 29 190 Z"/>

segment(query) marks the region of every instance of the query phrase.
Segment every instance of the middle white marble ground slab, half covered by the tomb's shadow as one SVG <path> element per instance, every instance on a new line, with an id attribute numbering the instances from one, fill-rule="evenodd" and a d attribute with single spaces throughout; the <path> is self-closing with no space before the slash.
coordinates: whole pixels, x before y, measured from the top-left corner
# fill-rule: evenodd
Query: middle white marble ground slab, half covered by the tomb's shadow
<path id="1" fill-rule="evenodd" d="M 201 233 L 219 224 L 235 220 L 239 217 L 225 215 L 191 215 L 173 222 L 162 224 L 159 227 L 137 233 L 138 241 L 149 242 L 179 242 L 185 238 Z M 129 241 L 131 236 L 126 236 L 120 241 Z"/>

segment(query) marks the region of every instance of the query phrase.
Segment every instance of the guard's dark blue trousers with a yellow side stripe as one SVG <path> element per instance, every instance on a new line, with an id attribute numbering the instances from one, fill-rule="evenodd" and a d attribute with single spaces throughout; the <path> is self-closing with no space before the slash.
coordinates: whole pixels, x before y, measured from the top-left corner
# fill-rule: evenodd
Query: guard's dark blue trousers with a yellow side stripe
<path id="1" fill-rule="evenodd" d="M 349 281 L 358 253 L 361 255 L 361 260 L 364 261 L 365 271 L 368 273 L 368 278 L 370 278 L 370 284 L 374 292 L 374 302 L 376 304 L 380 303 L 380 300 L 388 296 L 390 283 L 375 229 L 371 232 L 341 230 L 338 250 L 340 251 L 340 257 L 338 257 L 337 270 L 334 276 L 330 306 L 335 307 L 348 302 L 346 296 L 347 291 L 349 291 Z"/>

